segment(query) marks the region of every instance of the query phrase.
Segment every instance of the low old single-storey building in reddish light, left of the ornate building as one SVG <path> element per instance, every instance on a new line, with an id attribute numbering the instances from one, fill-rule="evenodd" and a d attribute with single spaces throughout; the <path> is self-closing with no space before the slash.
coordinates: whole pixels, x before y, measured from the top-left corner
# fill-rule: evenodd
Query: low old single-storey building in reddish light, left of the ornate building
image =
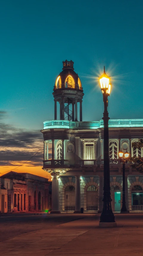
<path id="1" fill-rule="evenodd" d="M 44 212 L 49 209 L 48 179 L 30 173 L 8 172 L 0 177 L 0 183 L 1 213 Z"/>

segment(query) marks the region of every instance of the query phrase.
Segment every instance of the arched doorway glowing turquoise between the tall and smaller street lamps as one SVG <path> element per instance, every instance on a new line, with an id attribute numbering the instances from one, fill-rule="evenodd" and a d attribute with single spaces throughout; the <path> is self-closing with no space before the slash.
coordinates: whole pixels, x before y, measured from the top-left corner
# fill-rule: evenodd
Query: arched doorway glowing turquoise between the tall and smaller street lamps
<path id="1" fill-rule="evenodd" d="M 111 206 L 113 212 L 121 211 L 121 191 L 117 185 L 112 185 L 111 189 Z"/>

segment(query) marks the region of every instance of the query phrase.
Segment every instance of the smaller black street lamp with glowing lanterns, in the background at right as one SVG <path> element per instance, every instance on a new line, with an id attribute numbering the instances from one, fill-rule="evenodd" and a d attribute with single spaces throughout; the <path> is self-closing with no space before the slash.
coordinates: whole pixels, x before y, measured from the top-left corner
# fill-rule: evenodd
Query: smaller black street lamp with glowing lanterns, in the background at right
<path id="1" fill-rule="evenodd" d="M 122 208 L 121 213 L 127 213 L 126 201 L 125 201 L 125 163 L 127 163 L 129 153 L 126 151 L 123 153 L 119 152 L 120 162 L 123 164 L 123 193 L 122 193 Z"/>

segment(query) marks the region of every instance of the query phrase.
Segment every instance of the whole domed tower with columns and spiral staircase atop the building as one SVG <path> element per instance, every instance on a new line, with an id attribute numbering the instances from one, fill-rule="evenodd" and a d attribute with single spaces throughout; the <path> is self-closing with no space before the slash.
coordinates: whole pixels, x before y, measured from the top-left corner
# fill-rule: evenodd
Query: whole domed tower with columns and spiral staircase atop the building
<path id="1" fill-rule="evenodd" d="M 57 102 L 60 104 L 60 120 L 78 121 L 78 102 L 80 103 L 80 121 L 82 121 L 82 84 L 74 71 L 73 61 L 63 61 L 63 71 L 58 75 L 53 89 L 55 116 L 57 120 Z"/>

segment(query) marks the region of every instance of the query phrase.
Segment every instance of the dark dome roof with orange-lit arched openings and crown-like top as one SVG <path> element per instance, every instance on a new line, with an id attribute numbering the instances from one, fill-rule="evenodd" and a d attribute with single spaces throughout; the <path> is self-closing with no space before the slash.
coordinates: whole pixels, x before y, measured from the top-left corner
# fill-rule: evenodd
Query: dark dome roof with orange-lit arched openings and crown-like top
<path id="1" fill-rule="evenodd" d="M 54 91 L 57 89 L 66 90 L 82 90 L 82 84 L 78 74 L 74 71 L 73 61 L 63 61 L 63 70 L 60 72 L 56 79 Z"/>

